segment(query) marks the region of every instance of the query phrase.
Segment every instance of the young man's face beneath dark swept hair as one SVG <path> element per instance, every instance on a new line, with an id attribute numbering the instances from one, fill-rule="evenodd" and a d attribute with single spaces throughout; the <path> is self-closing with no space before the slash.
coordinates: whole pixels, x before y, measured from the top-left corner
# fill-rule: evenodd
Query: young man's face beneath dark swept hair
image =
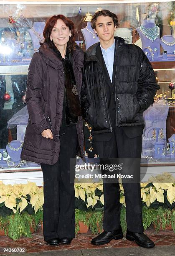
<path id="1" fill-rule="evenodd" d="M 96 20 L 95 33 L 101 41 L 110 41 L 114 37 L 114 21 L 109 16 L 99 16 Z"/>

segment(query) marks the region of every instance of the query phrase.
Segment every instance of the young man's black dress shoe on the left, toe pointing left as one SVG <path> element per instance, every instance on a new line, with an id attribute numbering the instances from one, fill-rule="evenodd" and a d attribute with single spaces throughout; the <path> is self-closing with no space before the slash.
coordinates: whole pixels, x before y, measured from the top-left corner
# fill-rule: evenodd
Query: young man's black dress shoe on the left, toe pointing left
<path id="1" fill-rule="evenodd" d="M 120 227 L 117 230 L 107 232 L 103 231 L 99 236 L 96 236 L 92 239 L 91 243 L 94 245 L 101 245 L 105 243 L 109 243 L 112 239 L 118 240 L 123 238 L 122 228 Z"/>

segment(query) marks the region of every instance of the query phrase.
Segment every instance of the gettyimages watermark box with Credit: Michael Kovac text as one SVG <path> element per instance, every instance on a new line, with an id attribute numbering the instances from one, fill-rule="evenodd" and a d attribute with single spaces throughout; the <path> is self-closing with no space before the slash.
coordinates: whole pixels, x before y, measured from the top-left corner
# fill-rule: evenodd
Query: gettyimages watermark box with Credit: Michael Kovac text
<path id="1" fill-rule="evenodd" d="M 84 163 L 72 161 L 71 182 L 118 183 L 119 179 L 126 183 L 140 182 L 140 159 L 86 159 Z"/>

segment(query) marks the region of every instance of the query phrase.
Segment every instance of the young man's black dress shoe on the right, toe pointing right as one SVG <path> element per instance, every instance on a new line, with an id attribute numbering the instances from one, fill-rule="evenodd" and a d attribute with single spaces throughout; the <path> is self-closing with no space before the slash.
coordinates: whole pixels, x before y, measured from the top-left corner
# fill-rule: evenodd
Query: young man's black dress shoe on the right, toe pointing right
<path id="1" fill-rule="evenodd" d="M 136 241 L 139 246 L 144 248 L 152 248 L 155 244 L 144 233 L 135 233 L 127 229 L 126 239 L 129 241 Z"/>

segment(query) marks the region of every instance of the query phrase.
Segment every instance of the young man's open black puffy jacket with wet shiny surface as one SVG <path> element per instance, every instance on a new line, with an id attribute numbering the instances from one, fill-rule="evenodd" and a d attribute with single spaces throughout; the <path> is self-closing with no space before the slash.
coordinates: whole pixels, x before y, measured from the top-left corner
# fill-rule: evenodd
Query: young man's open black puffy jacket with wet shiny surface
<path id="1" fill-rule="evenodd" d="M 153 97 L 159 89 L 154 71 L 147 56 L 138 46 L 125 44 L 124 39 L 119 37 L 115 37 L 115 43 L 116 125 L 143 125 L 143 111 L 153 103 Z M 105 79 L 96 57 L 98 45 L 99 43 L 94 44 L 86 51 L 81 110 L 93 132 L 104 133 L 113 129 L 107 106 Z"/>

